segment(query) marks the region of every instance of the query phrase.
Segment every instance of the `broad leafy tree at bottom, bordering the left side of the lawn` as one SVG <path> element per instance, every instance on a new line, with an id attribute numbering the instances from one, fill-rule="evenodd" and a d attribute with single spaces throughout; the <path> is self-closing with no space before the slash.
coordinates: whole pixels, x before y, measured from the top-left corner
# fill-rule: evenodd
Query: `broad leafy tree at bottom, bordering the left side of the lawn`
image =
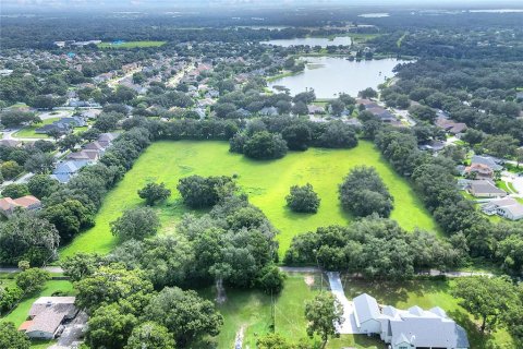
<path id="1" fill-rule="evenodd" d="M 212 302 L 202 299 L 195 291 L 166 287 L 145 309 L 145 316 L 163 325 L 181 347 L 205 335 L 217 336 L 223 317 Z"/>

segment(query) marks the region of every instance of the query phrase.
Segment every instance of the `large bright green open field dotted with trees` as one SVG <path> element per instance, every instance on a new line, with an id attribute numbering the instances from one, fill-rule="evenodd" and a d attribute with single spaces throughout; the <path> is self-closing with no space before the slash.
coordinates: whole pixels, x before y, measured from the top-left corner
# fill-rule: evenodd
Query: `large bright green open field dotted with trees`
<path id="1" fill-rule="evenodd" d="M 280 230 L 280 255 L 289 248 L 292 237 L 321 226 L 345 225 L 352 217 L 338 200 L 338 184 L 355 166 L 374 166 L 394 197 L 391 218 L 408 230 L 438 228 L 409 183 L 381 158 L 372 143 L 360 142 L 353 149 L 311 148 L 289 153 L 278 160 L 256 161 L 229 153 L 227 142 L 156 142 L 135 163 L 125 178 L 105 198 L 96 217 L 96 226 L 61 251 L 61 256 L 76 252 L 108 253 L 115 245 L 109 222 L 126 208 L 144 205 L 137 190 L 148 182 L 165 182 L 172 195 L 156 207 L 163 233 L 172 233 L 180 217 L 190 212 L 177 190 L 179 179 L 191 176 L 238 176 L 238 183 L 248 194 L 251 203 L 264 210 Z M 285 206 L 285 195 L 294 184 L 313 184 L 321 197 L 317 214 L 296 214 Z"/>

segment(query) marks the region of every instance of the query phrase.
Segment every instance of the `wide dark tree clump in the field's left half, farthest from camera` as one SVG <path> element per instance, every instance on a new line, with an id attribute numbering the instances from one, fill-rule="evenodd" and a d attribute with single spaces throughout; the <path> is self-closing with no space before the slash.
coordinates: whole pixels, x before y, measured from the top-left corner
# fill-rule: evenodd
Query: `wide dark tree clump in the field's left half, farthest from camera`
<path id="1" fill-rule="evenodd" d="M 180 179 L 177 189 L 185 205 L 202 208 L 211 207 L 220 200 L 232 195 L 236 186 L 232 178 L 227 176 L 204 178 L 193 174 Z"/>

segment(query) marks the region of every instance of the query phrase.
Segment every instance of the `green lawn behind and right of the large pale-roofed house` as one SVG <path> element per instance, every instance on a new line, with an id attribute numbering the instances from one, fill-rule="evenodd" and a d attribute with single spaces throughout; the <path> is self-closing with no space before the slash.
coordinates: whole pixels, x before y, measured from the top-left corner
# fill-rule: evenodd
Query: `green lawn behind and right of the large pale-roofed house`
<path id="1" fill-rule="evenodd" d="M 345 294 L 349 299 L 366 292 L 377 299 L 379 304 L 409 309 L 413 305 L 428 310 L 442 308 L 447 314 L 466 329 L 471 348 L 486 348 L 486 339 L 494 337 L 495 342 L 502 348 L 515 348 L 512 338 L 504 329 L 483 336 L 479 326 L 463 308 L 459 300 L 450 294 L 453 280 L 405 280 L 405 281 L 364 281 L 343 279 Z M 504 345 L 504 346 L 503 346 Z M 500 347 L 500 348 L 501 348 Z"/>

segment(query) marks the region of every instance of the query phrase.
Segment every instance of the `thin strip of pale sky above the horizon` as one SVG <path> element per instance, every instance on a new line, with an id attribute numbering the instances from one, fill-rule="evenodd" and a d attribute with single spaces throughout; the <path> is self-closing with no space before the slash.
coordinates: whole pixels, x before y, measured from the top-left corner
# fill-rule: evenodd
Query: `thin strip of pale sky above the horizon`
<path id="1" fill-rule="evenodd" d="M 437 7 L 523 7 L 523 0 L 0 0 L 1 9 L 151 9 L 151 8 L 198 8 L 198 7 L 303 7 L 320 4 L 345 5 L 429 5 Z"/>

